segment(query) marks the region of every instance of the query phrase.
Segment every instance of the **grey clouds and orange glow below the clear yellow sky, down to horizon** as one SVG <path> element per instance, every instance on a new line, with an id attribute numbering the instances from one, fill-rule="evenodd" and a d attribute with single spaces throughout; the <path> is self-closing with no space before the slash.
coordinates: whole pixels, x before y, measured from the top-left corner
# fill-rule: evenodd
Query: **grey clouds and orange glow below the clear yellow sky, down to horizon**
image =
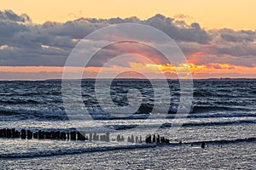
<path id="1" fill-rule="evenodd" d="M 28 14 L 15 14 L 10 9 L 0 11 L 0 80 L 61 78 L 67 56 L 81 39 L 99 28 L 120 23 L 153 26 L 172 37 L 186 56 L 194 78 L 256 78 L 255 30 L 205 29 L 197 22 L 189 24 L 186 17 L 155 14 L 141 20 L 84 16 L 37 24 Z M 91 75 L 96 74 L 101 62 L 95 59 L 90 63 Z M 131 66 L 122 64 L 115 66 Z M 172 74 L 166 63 L 156 64 L 166 75 Z"/>

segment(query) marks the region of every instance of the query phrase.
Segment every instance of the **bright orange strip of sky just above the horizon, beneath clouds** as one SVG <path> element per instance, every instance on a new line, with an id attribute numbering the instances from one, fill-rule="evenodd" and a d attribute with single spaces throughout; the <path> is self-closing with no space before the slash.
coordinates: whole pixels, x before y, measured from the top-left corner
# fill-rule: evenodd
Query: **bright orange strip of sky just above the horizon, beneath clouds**
<path id="1" fill-rule="evenodd" d="M 233 78 L 241 78 L 241 77 L 255 77 L 256 73 L 256 65 L 254 67 L 246 67 L 246 66 L 236 66 L 236 65 L 230 65 L 230 64 L 218 64 L 218 63 L 211 63 L 208 65 L 195 65 L 192 63 L 189 64 L 181 64 L 178 67 L 173 67 L 172 65 L 154 65 L 154 64 L 138 64 L 138 63 L 131 63 L 131 69 L 133 67 L 136 67 L 136 70 L 140 70 L 143 72 L 151 71 L 151 73 L 154 75 L 155 78 L 158 78 L 157 74 L 165 74 L 167 78 L 176 78 L 176 76 L 173 77 L 173 75 L 176 75 L 177 71 L 183 71 L 183 68 L 189 67 L 190 71 L 193 74 L 194 78 L 219 78 L 219 77 L 233 77 Z M 108 68 L 108 75 L 106 78 L 111 77 L 111 73 L 115 71 L 122 71 L 125 70 L 125 67 L 119 67 L 114 66 L 112 68 Z M 75 74 L 76 71 L 78 71 L 79 68 L 72 67 L 72 71 Z M 84 69 L 84 71 L 87 73 L 87 75 L 90 75 L 90 77 L 84 77 L 84 78 L 94 78 L 96 77 L 96 73 L 100 70 L 99 67 L 88 67 Z M 9 67 L 9 66 L 0 66 L 0 72 L 1 71 L 7 71 L 10 73 L 51 73 L 51 72 L 57 72 L 59 73 L 56 77 L 51 78 L 61 78 L 61 73 L 63 71 L 63 67 L 57 67 L 57 66 L 15 66 L 15 67 Z M 106 70 L 105 70 L 106 71 Z M 167 74 L 166 74 L 167 73 Z M 168 73 L 173 73 L 172 77 L 168 77 Z M 230 76 L 230 74 L 234 74 L 233 76 Z M 251 75 L 252 74 L 252 75 Z M 250 76 L 251 75 L 251 76 Z M 29 76 L 28 76 L 29 77 Z M 1 78 L 0 78 L 1 79 Z M 27 78 L 30 79 L 30 78 Z M 41 79 L 38 77 L 38 79 Z M 44 78 L 43 78 L 44 79 Z"/>

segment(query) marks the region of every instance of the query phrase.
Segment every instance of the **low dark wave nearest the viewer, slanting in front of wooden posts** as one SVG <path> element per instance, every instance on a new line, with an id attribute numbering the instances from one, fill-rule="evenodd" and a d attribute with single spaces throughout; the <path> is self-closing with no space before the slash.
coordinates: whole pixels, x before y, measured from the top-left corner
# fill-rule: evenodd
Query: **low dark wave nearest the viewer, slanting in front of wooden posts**
<path id="1" fill-rule="evenodd" d="M 243 142 L 256 142 L 256 138 L 244 138 L 244 139 L 217 139 L 217 140 L 204 140 L 204 141 L 192 141 L 183 142 L 183 144 L 237 144 Z M 102 152 L 111 150 L 134 150 L 134 149 L 146 149 L 163 146 L 180 146 L 180 143 L 170 144 L 132 144 L 132 145 L 116 145 L 116 146 L 102 146 L 102 147 L 90 147 L 90 148 L 79 148 L 79 149 L 63 149 L 63 150 L 45 150 L 45 151 L 28 151 L 24 153 L 9 153 L 1 154 L 0 158 L 32 158 L 32 157 L 44 157 L 44 156 L 61 156 L 61 155 L 74 155 L 84 154 L 90 152 Z"/>

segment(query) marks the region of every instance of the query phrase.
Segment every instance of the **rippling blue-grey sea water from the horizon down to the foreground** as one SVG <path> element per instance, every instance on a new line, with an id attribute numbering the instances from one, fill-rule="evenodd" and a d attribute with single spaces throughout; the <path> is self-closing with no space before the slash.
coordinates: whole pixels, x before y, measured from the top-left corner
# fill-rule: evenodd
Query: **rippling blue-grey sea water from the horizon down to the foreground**
<path id="1" fill-rule="evenodd" d="M 163 83 L 154 81 L 159 85 Z M 179 82 L 168 83 L 171 96 L 160 97 L 169 99 L 170 105 L 162 105 L 152 115 L 159 96 L 154 94 L 150 82 L 115 80 L 111 84 L 110 99 L 104 91 L 97 96 L 106 101 L 101 106 L 95 94 L 95 81 L 84 80 L 81 95 L 85 112 L 93 119 L 73 119 L 69 114 L 83 116 L 84 108 L 66 110 L 61 81 L 0 82 L 0 128 L 68 133 L 80 127 L 89 135 L 105 133 L 99 126 L 103 124 L 108 127 L 111 139 L 103 142 L 0 138 L 1 168 L 255 169 L 255 80 L 195 80 L 189 115 L 180 117 L 175 116 L 181 94 Z M 127 94 L 135 88 L 141 93 L 142 101 L 136 110 L 129 106 L 129 101 L 137 94 Z M 76 99 L 72 102 L 75 105 Z M 168 114 L 163 116 L 162 111 Z M 147 126 L 138 127 L 148 119 Z M 174 119 L 180 128 L 166 134 L 172 132 Z M 157 134 L 165 134 L 171 144 L 144 142 L 144 134 L 154 133 L 155 127 Z M 117 142 L 118 134 L 124 135 L 125 141 Z M 131 134 L 141 135 L 143 141 L 127 142 Z M 207 143 L 204 149 L 202 142 Z"/>

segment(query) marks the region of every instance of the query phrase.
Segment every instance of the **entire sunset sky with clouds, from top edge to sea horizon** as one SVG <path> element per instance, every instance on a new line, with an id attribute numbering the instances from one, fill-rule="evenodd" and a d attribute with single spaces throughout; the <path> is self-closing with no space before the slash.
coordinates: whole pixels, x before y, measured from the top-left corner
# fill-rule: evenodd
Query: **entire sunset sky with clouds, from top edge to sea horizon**
<path id="1" fill-rule="evenodd" d="M 256 78 L 255 6 L 253 0 L 3 0 L 0 80 L 61 78 L 67 56 L 81 39 L 104 26 L 127 22 L 165 32 L 177 42 L 187 63 L 177 68 L 157 54 L 151 55 L 158 59 L 154 65 L 126 59 L 122 65 L 110 66 L 106 77 L 136 67 L 155 78 L 159 71 L 172 78 L 185 65 L 194 78 Z M 96 76 L 99 63 L 108 58 L 104 57 L 84 68 L 89 73 L 86 77 Z M 127 73 L 122 77 L 140 76 Z"/>

